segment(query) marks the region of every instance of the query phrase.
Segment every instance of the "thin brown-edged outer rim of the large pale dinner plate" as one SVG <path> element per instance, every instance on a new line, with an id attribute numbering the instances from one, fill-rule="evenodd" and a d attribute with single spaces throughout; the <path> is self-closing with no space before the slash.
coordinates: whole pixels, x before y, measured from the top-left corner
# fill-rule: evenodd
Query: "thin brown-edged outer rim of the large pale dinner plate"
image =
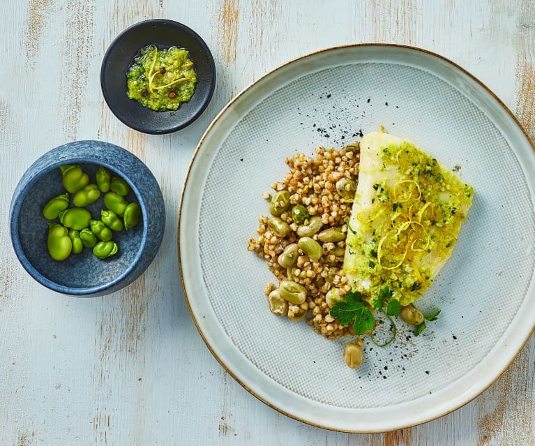
<path id="1" fill-rule="evenodd" d="M 262 403 L 266 404 L 266 406 L 269 406 L 270 408 L 276 410 L 277 412 L 281 413 L 282 415 L 286 415 L 287 417 L 295 419 L 296 421 L 309 424 L 310 426 L 315 426 L 315 427 L 318 427 L 318 428 L 321 428 L 321 429 L 328 429 L 330 431 L 338 431 L 338 432 L 345 432 L 345 433 L 382 433 L 382 432 L 388 432 L 388 431 L 395 431 L 395 430 L 398 430 L 398 429 L 406 429 L 408 427 L 418 426 L 420 424 L 431 422 L 434 419 L 438 419 L 439 417 L 443 417 L 444 415 L 448 415 L 449 413 L 454 412 L 455 410 L 458 410 L 458 409 L 462 408 L 463 406 L 466 406 L 468 403 L 470 403 L 471 401 L 476 399 L 479 395 L 481 395 L 483 392 L 485 392 L 485 390 L 487 390 L 492 384 L 494 384 L 503 375 L 503 373 L 509 368 L 509 366 L 511 366 L 511 364 L 513 363 L 515 358 L 518 357 L 520 351 L 525 347 L 527 341 L 529 341 L 529 338 L 532 336 L 532 334 L 534 334 L 534 332 L 535 332 L 535 324 L 529 330 L 527 336 L 525 337 L 525 339 L 520 344 L 518 350 L 515 351 L 514 354 L 511 356 L 511 359 L 508 362 L 506 362 L 506 364 L 504 364 L 504 367 L 502 368 L 502 370 L 499 371 L 499 373 L 497 373 L 495 378 L 493 378 L 487 385 L 485 385 L 479 391 L 476 391 L 475 394 L 469 395 L 467 398 L 464 399 L 464 401 L 461 401 L 460 403 L 454 403 L 453 406 L 451 406 L 451 408 L 443 409 L 439 413 L 433 414 L 431 416 L 427 416 L 427 417 L 425 417 L 425 419 L 418 420 L 418 421 L 416 421 L 414 423 L 402 424 L 402 425 L 395 426 L 393 429 L 386 429 L 386 430 L 378 430 L 378 429 L 368 429 L 368 430 L 362 430 L 362 429 L 338 429 L 336 427 L 328 426 L 328 425 L 325 425 L 325 424 L 317 424 L 316 422 L 312 422 L 312 421 L 310 421 L 308 419 L 304 419 L 302 417 L 299 417 L 298 415 L 294 415 L 292 413 L 289 413 L 286 410 L 284 410 L 282 408 L 279 408 L 278 406 L 275 406 L 273 403 L 267 401 L 264 397 L 260 396 L 253 389 L 248 387 L 248 385 L 246 385 L 245 382 L 243 382 L 241 379 L 239 379 L 234 374 L 234 372 L 229 369 L 229 367 L 223 362 L 222 359 L 220 359 L 220 357 L 218 357 L 216 352 L 213 350 L 213 348 L 211 347 L 211 345 L 207 341 L 206 337 L 204 336 L 204 333 L 202 332 L 202 329 L 200 328 L 199 323 L 197 322 L 197 318 L 195 318 L 195 314 L 193 313 L 192 307 L 190 305 L 190 299 L 188 297 L 188 292 L 186 291 L 186 282 L 185 282 L 185 280 L 183 278 L 183 267 L 182 267 L 182 258 L 181 258 L 181 243 L 180 243 L 180 234 L 181 234 L 181 232 L 180 232 L 180 230 L 181 230 L 181 217 L 182 217 L 182 211 L 183 211 L 183 202 L 184 202 L 184 197 L 186 195 L 186 186 L 188 184 L 188 179 L 190 179 L 190 172 L 191 172 L 193 163 L 195 163 L 195 159 L 197 158 L 197 155 L 199 154 L 199 151 L 202 148 L 204 140 L 206 140 L 206 137 L 211 132 L 213 126 L 216 125 L 216 123 L 223 116 L 223 114 L 225 114 L 227 112 L 227 110 L 230 107 L 232 107 L 232 105 L 236 101 L 238 101 L 239 98 L 241 98 L 241 96 L 246 94 L 256 84 L 258 84 L 259 82 L 262 82 L 266 77 L 269 77 L 273 73 L 276 73 L 276 71 L 278 71 L 278 70 L 280 70 L 282 68 L 285 68 L 286 66 L 288 66 L 290 64 L 294 64 L 295 62 L 300 61 L 302 59 L 306 59 L 308 57 L 313 57 L 313 56 L 315 56 L 317 54 L 322 54 L 324 52 L 329 52 L 329 51 L 333 51 L 333 50 L 343 50 L 345 48 L 356 48 L 356 47 L 394 47 L 394 48 L 401 48 L 401 49 L 404 49 L 404 50 L 413 50 L 415 52 L 423 53 L 425 55 L 428 55 L 428 56 L 431 56 L 431 57 L 436 57 L 437 59 L 441 59 L 442 61 L 446 62 L 446 64 L 449 64 L 449 65 L 453 66 L 453 68 L 455 68 L 457 70 L 460 70 L 460 72 L 462 74 L 467 75 L 467 77 L 469 77 L 471 80 L 476 82 L 476 84 L 478 84 L 479 87 L 482 87 L 483 90 L 487 94 L 490 94 L 490 96 L 496 101 L 497 105 L 499 105 L 499 107 L 501 107 L 506 112 L 506 114 L 508 114 L 508 116 L 511 117 L 513 122 L 516 124 L 516 126 L 520 129 L 520 131 L 525 136 L 528 144 L 532 147 L 532 150 L 535 152 L 534 141 L 532 140 L 531 137 L 529 137 L 529 134 L 527 133 L 525 128 L 522 126 L 522 124 L 520 123 L 518 118 L 515 116 L 515 114 L 513 114 L 513 112 L 511 112 L 511 110 L 494 93 L 494 91 L 492 91 L 492 89 L 490 89 L 486 84 L 484 84 L 481 80 L 479 80 L 479 78 L 477 78 L 476 76 L 472 75 L 472 73 L 469 73 L 468 70 L 466 70 L 465 68 L 462 68 L 462 66 L 460 66 L 460 65 L 456 64 L 455 62 L 451 61 L 451 59 L 448 59 L 447 57 L 444 57 L 441 54 L 438 54 L 436 52 L 432 52 L 430 50 L 426 50 L 426 49 L 421 48 L 421 47 L 416 47 L 416 46 L 413 46 L 413 45 L 402 45 L 402 44 L 398 44 L 398 43 L 351 43 L 351 44 L 347 44 L 347 45 L 335 45 L 335 46 L 331 46 L 331 47 L 325 47 L 325 48 L 323 48 L 321 50 L 308 52 L 308 53 L 303 54 L 303 55 L 301 55 L 299 57 L 295 57 L 294 59 L 290 59 L 289 61 L 286 61 L 285 63 L 280 64 L 279 66 L 276 66 L 276 68 L 273 68 L 272 70 L 269 70 L 268 72 L 264 73 L 264 75 L 259 77 L 257 80 L 254 80 L 253 82 L 250 82 L 250 84 L 248 84 L 238 94 L 236 94 L 236 96 L 234 96 L 234 98 L 232 98 L 229 102 L 227 102 L 225 104 L 225 106 L 220 110 L 220 112 L 218 112 L 216 117 L 213 118 L 213 120 L 209 124 L 208 128 L 206 128 L 206 131 L 204 131 L 201 139 L 199 140 L 199 142 L 197 144 L 197 147 L 195 148 L 195 151 L 193 153 L 193 156 L 190 159 L 190 163 L 188 164 L 188 169 L 186 170 L 186 175 L 185 175 L 184 180 L 183 180 L 183 188 L 182 188 L 182 191 L 181 191 L 181 197 L 180 197 L 180 202 L 179 202 L 179 216 L 178 216 L 178 221 L 177 221 L 177 232 L 176 232 L 177 240 L 176 241 L 177 241 L 177 251 L 178 251 L 179 274 L 180 274 L 180 281 L 181 281 L 181 286 L 182 286 L 182 290 L 183 290 L 183 295 L 184 295 L 184 299 L 186 300 L 186 305 L 188 306 L 188 311 L 190 312 L 190 316 L 191 316 L 191 318 L 192 318 L 192 320 L 193 320 L 193 322 L 195 324 L 195 327 L 197 328 L 197 332 L 199 332 L 199 335 L 201 336 L 202 341 L 204 342 L 206 347 L 209 349 L 209 351 L 211 352 L 213 357 L 216 359 L 216 361 L 220 364 L 220 366 L 223 367 L 223 369 L 227 373 L 229 373 L 230 376 L 232 376 L 232 378 L 234 378 L 234 380 L 236 380 L 236 382 L 239 383 L 239 385 L 241 385 L 241 387 L 246 389 L 247 392 L 249 392 L 250 394 L 255 396 L 255 398 L 257 398 L 259 401 L 262 401 Z M 490 350 L 490 352 L 492 352 L 492 349 Z M 490 354 L 490 352 L 489 352 L 489 354 Z M 449 385 L 447 385 L 446 387 L 449 387 Z"/>

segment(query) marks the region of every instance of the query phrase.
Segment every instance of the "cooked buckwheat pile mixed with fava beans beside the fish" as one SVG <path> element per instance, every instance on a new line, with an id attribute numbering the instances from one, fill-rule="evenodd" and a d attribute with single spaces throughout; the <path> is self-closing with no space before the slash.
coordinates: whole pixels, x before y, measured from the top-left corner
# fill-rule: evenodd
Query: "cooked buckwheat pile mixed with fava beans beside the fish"
<path id="1" fill-rule="evenodd" d="M 248 250 L 266 260 L 278 283 L 264 294 L 269 309 L 292 320 L 305 318 L 329 339 L 352 334 L 329 311 L 347 291 L 342 271 L 349 218 L 359 171 L 359 143 L 340 150 L 318 147 L 316 156 L 286 158 L 289 172 L 264 193 L 269 214 L 259 217 Z"/>

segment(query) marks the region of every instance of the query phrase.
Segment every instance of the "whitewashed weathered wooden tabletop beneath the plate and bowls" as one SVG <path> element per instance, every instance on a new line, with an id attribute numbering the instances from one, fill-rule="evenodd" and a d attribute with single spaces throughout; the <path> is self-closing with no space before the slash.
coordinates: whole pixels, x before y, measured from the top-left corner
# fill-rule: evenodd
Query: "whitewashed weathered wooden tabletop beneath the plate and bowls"
<path id="1" fill-rule="evenodd" d="M 123 126 L 99 81 L 112 39 L 156 17 L 195 29 L 218 73 L 202 117 L 165 136 Z M 213 359 L 188 313 L 176 251 L 183 179 L 211 119 L 266 71 L 314 50 L 389 42 L 438 52 L 487 84 L 533 139 L 534 0 L 4 0 L 0 41 L 1 445 L 535 445 L 534 336 L 490 389 L 450 415 L 383 434 L 325 431 L 265 406 Z M 85 139 L 144 160 L 163 190 L 167 228 L 135 283 L 75 299 L 24 272 L 8 202 L 38 156 Z"/>

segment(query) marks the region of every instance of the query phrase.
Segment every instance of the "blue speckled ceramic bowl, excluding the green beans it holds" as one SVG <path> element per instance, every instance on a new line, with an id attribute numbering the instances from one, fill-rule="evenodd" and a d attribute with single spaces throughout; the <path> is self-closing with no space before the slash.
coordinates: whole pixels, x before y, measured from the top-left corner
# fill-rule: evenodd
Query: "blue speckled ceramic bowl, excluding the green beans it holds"
<path id="1" fill-rule="evenodd" d="M 119 252 L 107 260 L 98 260 L 92 249 L 84 248 L 56 262 L 47 251 L 48 225 L 41 211 L 48 200 L 65 193 L 59 166 L 73 163 L 82 165 L 91 183 L 98 165 L 122 177 L 132 189 L 126 200 L 138 202 L 142 209 L 134 228 L 114 232 Z M 86 208 L 100 219 L 100 209 L 105 209 L 102 196 Z M 24 269 L 47 288 L 78 297 L 106 295 L 133 282 L 156 256 L 164 228 L 163 196 L 153 174 L 139 158 L 108 142 L 70 142 L 47 152 L 24 173 L 10 206 L 11 241 Z"/>

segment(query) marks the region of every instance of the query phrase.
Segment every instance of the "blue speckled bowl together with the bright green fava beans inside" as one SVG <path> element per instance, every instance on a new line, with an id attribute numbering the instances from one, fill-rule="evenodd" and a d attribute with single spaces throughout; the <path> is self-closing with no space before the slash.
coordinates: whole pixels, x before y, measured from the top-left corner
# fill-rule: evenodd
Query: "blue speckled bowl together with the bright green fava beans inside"
<path id="1" fill-rule="evenodd" d="M 163 195 L 149 168 L 129 151 L 76 141 L 38 158 L 15 188 L 11 241 L 39 283 L 94 297 L 135 281 L 158 253 Z"/>

